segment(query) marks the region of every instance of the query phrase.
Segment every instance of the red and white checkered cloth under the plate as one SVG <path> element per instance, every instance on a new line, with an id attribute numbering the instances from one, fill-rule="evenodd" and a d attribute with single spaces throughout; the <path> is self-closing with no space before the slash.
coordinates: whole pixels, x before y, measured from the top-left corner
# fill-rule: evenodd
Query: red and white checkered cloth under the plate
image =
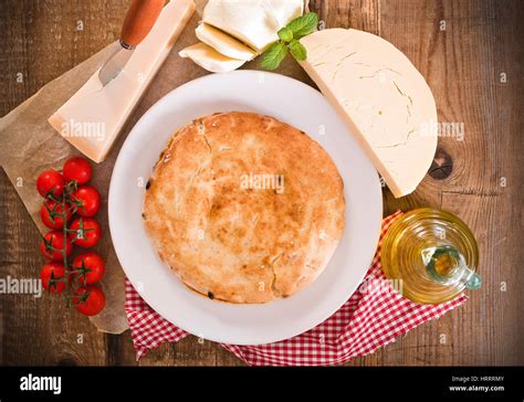
<path id="1" fill-rule="evenodd" d="M 365 279 L 333 316 L 315 328 L 275 343 L 223 345 L 250 366 L 331 366 L 369 355 L 412 328 L 460 306 L 467 296 L 440 305 L 417 304 L 394 290 L 380 268 L 382 237 L 397 212 L 382 221 L 382 232 Z M 126 279 L 126 313 L 137 360 L 165 341 L 177 342 L 188 332 L 150 308 Z"/>

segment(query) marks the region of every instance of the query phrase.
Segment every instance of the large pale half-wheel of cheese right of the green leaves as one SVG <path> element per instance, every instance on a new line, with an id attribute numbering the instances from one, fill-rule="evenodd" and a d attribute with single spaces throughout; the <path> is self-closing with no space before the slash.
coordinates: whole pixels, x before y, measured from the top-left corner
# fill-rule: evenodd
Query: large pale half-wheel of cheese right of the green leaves
<path id="1" fill-rule="evenodd" d="M 327 29 L 304 36 L 306 73 L 345 120 L 395 197 L 412 192 L 437 149 L 431 89 L 408 57 L 374 34 Z"/>

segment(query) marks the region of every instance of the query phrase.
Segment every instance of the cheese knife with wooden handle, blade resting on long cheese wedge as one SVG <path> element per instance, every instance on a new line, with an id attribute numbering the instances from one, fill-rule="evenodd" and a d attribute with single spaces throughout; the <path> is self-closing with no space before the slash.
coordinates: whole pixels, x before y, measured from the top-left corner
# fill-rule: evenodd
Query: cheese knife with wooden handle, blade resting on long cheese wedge
<path id="1" fill-rule="evenodd" d="M 119 45 L 98 72 L 104 86 L 122 72 L 136 46 L 151 30 L 165 3 L 165 0 L 133 0 L 122 25 Z"/>

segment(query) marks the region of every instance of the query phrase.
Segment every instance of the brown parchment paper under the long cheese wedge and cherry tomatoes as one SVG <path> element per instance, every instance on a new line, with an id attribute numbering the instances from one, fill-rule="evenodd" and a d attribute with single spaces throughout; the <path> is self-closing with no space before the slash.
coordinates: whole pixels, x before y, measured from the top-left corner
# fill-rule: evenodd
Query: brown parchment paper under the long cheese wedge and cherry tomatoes
<path id="1" fill-rule="evenodd" d="M 103 237 L 95 250 L 106 261 L 106 274 L 102 282 L 106 294 L 106 307 L 99 315 L 90 319 L 99 330 L 105 332 L 120 334 L 128 328 L 124 309 L 124 272 L 115 255 L 107 223 L 107 193 L 113 166 L 127 134 L 147 109 L 181 84 L 209 74 L 190 60 L 178 56 L 179 50 L 197 43 L 195 28 L 198 24 L 206 0 L 196 1 L 197 12 L 144 94 L 107 160 L 99 165 L 93 163 L 92 184 L 98 189 L 103 200 L 101 212 L 96 216 L 102 225 Z M 80 154 L 54 131 L 49 125 L 48 118 L 99 68 L 111 53 L 112 46 L 105 47 L 59 78 L 50 82 L 35 95 L 0 119 L 1 166 L 42 234 L 48 229 L 40 221 L 39 211 L 42 199 L 35 190 L 36 177 L 45 169 L 61 169 L 69 157 Z M 258 64 L 259 61 L 254 60 L 242 68 L 258 70 Z M 284 61 L 277 73 L 314 85 L 292 57 Z M 174 131 L 176 127 L 172 128 Z M 38 247 L 38 244 L 34 246 Z M 36 277 L 39 268 L 34 267 L 34 269 L 35 272 L 32 274 Z"/>

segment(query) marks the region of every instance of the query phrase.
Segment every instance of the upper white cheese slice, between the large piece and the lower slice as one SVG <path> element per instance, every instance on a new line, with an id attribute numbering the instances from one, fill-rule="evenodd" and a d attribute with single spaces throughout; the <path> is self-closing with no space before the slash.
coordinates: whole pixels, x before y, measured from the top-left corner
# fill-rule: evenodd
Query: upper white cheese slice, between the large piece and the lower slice
<path id="1" fill-rule="evenodd" d="M 245 61 L 250 61 L 256 56 L 254 50 L 207 23 L 200 23 L 195 30 L 195 33 L 201 42 L 213 47 L 224 56 Z"/>

